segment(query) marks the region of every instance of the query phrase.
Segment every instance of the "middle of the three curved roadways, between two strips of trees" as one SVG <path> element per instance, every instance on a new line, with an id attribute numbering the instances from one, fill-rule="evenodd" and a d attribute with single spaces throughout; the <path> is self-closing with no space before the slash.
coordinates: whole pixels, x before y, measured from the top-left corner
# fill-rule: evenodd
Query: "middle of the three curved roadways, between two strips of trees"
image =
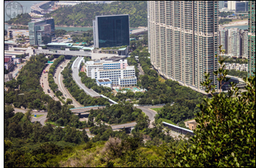
<path id="1" fill-rule="evenodd" d="M 67 90 L 67 88 L 64 86 L 63 84 L 63 76 L 61 75 L 61 71 L 64 70 L 64 68 L 67 66 L 67 64 L 69 63 L 70 60 L 64 60 L 64 62 L 60 63 L 58 65 L 58 67 L 56 68 L 56 73 L 53 76 L 53 79 L 55 81 L 56 84 L 58 84 L 59 90 L 63 93 L 64 97 L 69 98 L 72 100 L 72 105 L 75 106 L 75 108 L 80 108 L 83 107 L 83 105 L 80 105 L 80 103 L 78 103 L 77 100 L 75 100 L 74 97 L 72 97 L 72 95 L 69 93 L 69 91 Z M 63 68 L 61 68 L 61 65 Z"/>

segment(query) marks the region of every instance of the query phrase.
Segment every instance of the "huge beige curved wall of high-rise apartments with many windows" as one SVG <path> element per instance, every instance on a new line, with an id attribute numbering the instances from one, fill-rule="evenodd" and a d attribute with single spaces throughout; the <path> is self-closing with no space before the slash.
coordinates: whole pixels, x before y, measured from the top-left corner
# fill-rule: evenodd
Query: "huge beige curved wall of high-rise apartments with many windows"
<path id="1" fill-rule="evenodd" d="M 203 92 L 204 72 L 218 87 L 219 1 L 148 1 L 148 49 L 162 76 Z"/>

